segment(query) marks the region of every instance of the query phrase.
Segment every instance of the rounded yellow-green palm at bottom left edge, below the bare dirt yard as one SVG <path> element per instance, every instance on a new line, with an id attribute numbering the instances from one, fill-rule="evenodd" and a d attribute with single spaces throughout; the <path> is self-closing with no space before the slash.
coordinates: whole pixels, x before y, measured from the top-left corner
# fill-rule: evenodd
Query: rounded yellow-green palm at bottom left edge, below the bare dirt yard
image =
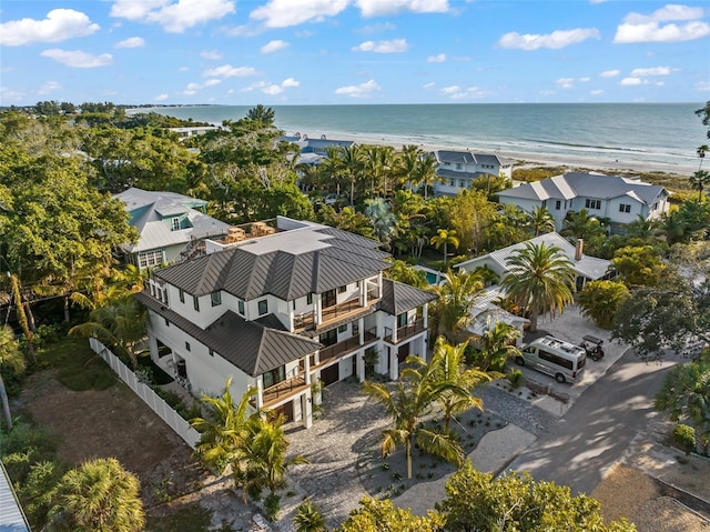
<path id="1" fill-rule="evenodd" d="M 84 462 L 62 476 L 50 495 L 47 532 L 143 530 L 139 480 L 113 458 Z"/>

